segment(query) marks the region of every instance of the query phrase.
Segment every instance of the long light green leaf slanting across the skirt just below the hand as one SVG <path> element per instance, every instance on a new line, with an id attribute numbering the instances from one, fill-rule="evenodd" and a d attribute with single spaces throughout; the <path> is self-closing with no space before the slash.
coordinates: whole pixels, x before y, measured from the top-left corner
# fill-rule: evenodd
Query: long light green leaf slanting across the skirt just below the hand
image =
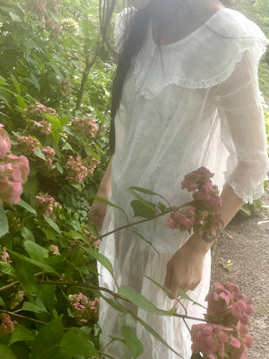
<path id="1" fill-rule="evenodd" d="M 148 301 L 142 294 L 137 293 L 128 285 L 121 285 L 118 288 L 118 293 L 124 296 L 127 300 L 132 302 L 138 308 L 143 309 L 144 311 L 148 311 L 152 314 L 158 315 L 170 315 L 170 311 L 163 311 L 157 308 L 152 302 Z"/>

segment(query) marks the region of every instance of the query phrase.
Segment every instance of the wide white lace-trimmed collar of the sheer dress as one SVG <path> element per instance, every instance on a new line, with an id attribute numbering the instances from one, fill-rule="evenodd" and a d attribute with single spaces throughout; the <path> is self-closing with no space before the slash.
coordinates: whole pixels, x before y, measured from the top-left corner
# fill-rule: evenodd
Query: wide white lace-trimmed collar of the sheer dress
<path id="1" fill-rule="evenodd" d="M 185 39 L 161 49 L 152 40 L 150 26 L 148 38 L 133 63 L 135 91 L 152 100 L 170 84 L 188 89 L 215 86 L 230 77 L 246 50 L 258 63 L 268 43 L 256 23 L 226 8 Z"/>

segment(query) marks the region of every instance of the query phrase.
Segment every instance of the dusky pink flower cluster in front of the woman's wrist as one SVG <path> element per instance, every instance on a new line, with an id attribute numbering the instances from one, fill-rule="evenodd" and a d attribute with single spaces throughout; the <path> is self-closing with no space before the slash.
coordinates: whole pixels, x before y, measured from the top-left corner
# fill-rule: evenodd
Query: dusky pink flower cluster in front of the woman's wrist
<path id="1" fill-rule="evenodd" d="M 213 173 L 201 167 L 188 173 L 181 183 L 182 189 L 193 192 L 193 200 L 181 207 L 172 207 L 166 220 L 171 229 L 203 232 L 213 236 L 221 223 L 221 197 L 211 178 Z"/>

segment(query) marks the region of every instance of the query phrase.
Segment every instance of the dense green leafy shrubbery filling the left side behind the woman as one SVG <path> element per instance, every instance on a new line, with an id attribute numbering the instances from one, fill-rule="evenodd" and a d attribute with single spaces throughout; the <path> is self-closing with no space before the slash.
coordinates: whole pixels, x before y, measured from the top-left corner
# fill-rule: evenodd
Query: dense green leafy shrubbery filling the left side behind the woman
<path id="1" fill-rule="evenodd" d="M 238 0 L 235 7 L 269 36 L 266 2 Z M 85 313 L 82 321 L 70 302 L 73 294 L 83 293 L 92 302 L 100 296 L 95 288 L 98 255 L 92 236 L 96 233 L 86 223 L 91 196 L 108 163 L 115 57 L 100 37 L 98 1 L 0 0 L 0 45 L 0 122 L 12 138 L 13 153 L 23 152 L 18 137 L 33 136 L 39 142 L 28 155 L 30 177 L 20 205 L 4 205 L 0 212 L 0 312 L 8 311 L 17 321 L 12 333 L 0 330 L 0 358 L 99 356 L 96 312 Z M 260 83 L 269 101 L 268 52 L 260 67 Z M 51 126 L 47 136 L 33 130 L 38 120 L 25 111 L 36 102 L 56 110 L 54 116 L 44 115 Z M 100 130 L 96 136 L 84 136 L 74 118 L 94 118 Z M 42 152 L 46 146 L 56 153 L 49 168 Z M 70 155 L 100 164 L 81 183 L 74 182 L 66 168 Z M 40 193 L 54 197 L 61 207 L 46 215 L 36 198 Z M 123 340 L 126 346 L 132 340 L 137 344 L 128 329 Z"/>

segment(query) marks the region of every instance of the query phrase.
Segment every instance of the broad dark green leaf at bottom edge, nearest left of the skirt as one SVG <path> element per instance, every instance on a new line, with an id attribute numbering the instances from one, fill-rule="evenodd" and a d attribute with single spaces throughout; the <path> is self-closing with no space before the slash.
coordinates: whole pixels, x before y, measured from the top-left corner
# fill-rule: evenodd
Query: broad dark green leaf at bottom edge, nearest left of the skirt
<path id="1" fill-rule="evenodd" d="M 82 335 L 75 333 L 73 330 L 65 333 L 61 346 L 63 346 L 68 355 L 82 355 L 87 358 L 93 355 L 99 356 L 98 350 L 95 349 L 91 340 L 87 337 L 82 337 Z"/>

